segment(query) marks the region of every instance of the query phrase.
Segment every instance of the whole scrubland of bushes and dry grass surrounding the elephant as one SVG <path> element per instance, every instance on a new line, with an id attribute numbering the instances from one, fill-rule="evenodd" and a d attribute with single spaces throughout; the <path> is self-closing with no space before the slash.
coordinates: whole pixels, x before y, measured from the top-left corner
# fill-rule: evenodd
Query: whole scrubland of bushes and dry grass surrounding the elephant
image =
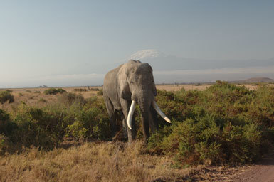
<path id="1" fill-rule="evenodd" d="M 138 108 L 137 141 L 111 141 L 100 87 L 0 91 L 0 181 L 223 181 L 273 146 L 274 87 L 202 86 L 157 87 L 172 124 L 147 146 Z"/>

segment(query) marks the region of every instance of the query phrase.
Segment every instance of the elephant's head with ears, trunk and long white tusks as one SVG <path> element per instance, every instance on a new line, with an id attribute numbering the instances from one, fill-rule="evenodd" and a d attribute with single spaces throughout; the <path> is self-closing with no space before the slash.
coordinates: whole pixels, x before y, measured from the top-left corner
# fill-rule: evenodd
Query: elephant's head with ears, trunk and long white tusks
<path id="1" fill-rule="evenodd" d="M 154 100 L 157 90 L 152 75 L 152 67 L 148 63 L 141 63 L 139 60 L 130 60 L 128 63 L 122 65 L 119 75 L 120 97 L 132 101 L 130 112 L 127 116 L 127 125 L 130 129 L 132 129 L 131 121 L 136 103 L 139 104 L 141 109 L 143 127 L 148 128 L 149 119 L 151 119 L 151 116 L 149 116 L 151 107 L 170 123 L 170 120 L 159 109 Z"/>

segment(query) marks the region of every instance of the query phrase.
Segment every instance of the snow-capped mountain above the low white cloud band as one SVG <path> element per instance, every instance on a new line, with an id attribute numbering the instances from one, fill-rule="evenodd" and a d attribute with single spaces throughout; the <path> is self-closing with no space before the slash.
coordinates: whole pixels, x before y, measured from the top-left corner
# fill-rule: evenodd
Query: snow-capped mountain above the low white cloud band
<path id="1" fill-rule="evenodd" d="M 274 66 L 274 58 L 266 60 L 203 60 L 165 55 L 154 49 L 138 51 L 137 53 L 132 54 L 129 59 L 141 60 L 142 62 L 149 63 L 154 70 L 205 70 Z"/>

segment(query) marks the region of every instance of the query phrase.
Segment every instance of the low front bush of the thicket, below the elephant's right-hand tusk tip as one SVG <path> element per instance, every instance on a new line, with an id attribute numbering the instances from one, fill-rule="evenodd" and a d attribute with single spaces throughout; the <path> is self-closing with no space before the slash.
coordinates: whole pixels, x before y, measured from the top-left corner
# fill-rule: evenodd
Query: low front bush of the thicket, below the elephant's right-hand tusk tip
<path id="1" fill-rule="evenodd" d="M 245 163 L 260 155 L 261 132 L 255 124 L 221 128 L 206 115 L 174 124 L 169 133 L 152 135 L 149 150 L 174 156 L 178 164 Z"/>

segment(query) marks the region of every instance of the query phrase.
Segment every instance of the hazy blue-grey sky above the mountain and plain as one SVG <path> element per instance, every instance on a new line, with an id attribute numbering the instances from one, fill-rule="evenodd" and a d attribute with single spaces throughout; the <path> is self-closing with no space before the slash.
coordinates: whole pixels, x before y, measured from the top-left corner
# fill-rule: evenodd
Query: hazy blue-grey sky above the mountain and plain
<path id="1" fill-rule="evenodd" d="M 1 1 L 0 88 L 102 85 L 108 69 L 140 50 L 271 60 L 273 9 L 267 0 Z"/>

